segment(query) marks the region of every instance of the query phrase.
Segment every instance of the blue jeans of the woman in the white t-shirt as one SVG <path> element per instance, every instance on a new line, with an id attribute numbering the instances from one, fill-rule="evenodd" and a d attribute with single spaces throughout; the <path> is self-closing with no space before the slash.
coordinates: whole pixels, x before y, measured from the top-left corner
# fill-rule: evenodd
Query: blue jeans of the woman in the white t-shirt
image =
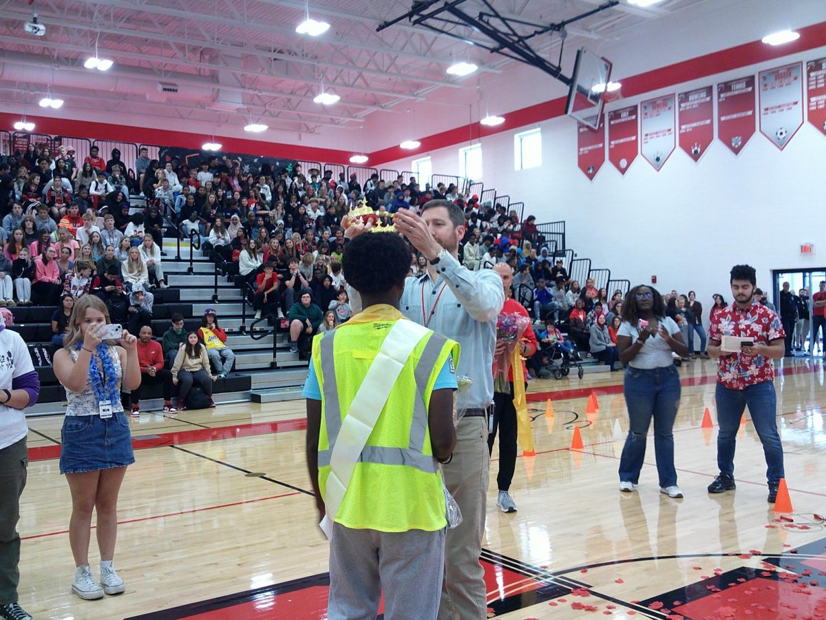
<path id="1" fill-rule="evenodd" d="M 654 455 L 660 487 L 676 484 L 674 469 L 674 419 L 680 406 L 680 374 L 675 365 L 662 368 L 625 369 L 625 404 L 629 432 L 619 458 L 619 479 L 638 484 L 645 459 L 645 441 L 654 419 Z M 739 418 L 738 418 L 739 423 Z"/>

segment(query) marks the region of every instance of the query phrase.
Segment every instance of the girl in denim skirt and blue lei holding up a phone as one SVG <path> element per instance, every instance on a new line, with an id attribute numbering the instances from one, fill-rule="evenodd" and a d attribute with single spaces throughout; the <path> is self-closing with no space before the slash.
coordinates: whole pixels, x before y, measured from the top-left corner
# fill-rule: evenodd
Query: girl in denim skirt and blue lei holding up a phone
<path id="1" fill-rule="evenodd" d="M 125 589 L 112 559 L 117 496 L 135 456 L 121 389 L 140 385 L 140 366 L 135 336 L 123 331 L 119 341 L 104 340 L 108 323 L 106 304 L 95 295 L 83 295 L 74 304 L 63 348 L 55 353 L 55 375 L 68 401 L 60 432 L 60 473 L 66 475 L 72 494 L 69 544 L 76 566 L 72 591 L 81 599 L 100 599 L 104 593 Z M 101 554 L 99 583 L 88 560 L 93 510 Z"/>

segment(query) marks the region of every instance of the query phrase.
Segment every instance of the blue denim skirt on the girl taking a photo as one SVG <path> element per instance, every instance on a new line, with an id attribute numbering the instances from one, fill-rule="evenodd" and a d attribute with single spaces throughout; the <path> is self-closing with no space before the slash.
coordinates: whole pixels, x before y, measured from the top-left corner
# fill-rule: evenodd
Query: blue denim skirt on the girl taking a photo
<path id="1" fill-rule="evenodd" d="M 60 440 L 61 474 L 108 470 L 135 462 L 129 418 L 122 411 L 106 419 L 98 415 L 66 416 Z"/>

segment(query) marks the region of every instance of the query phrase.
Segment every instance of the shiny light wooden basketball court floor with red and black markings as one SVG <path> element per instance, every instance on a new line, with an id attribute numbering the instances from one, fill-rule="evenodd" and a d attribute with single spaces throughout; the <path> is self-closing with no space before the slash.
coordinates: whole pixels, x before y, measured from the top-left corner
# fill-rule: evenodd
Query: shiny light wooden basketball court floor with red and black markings
<path id="1" fill-rule="evenodd" d="M 736 492 L 705 490 L 717 473 L 716 428 L 701 428 L 706 407 L 716 427 L 713 362 L 681 368 L 677 500 L 659 493 L 650 437 L 638 492 L 618 491 L 621 373 L 532 381 L 537 454 L 517 460 L 517 513 L 496 508 L 496 448 L 491 462 L 488 617 L 826 618 L 826 532 L 814 516 L 826 514 L 824 367 L 778 367 L 789 520 L 766 501 L 751 422 L 739 434 Z M 586 415 L 591 391 L 599 410 Z M 121 490 L 115 559 L 126 593 L 97 601 L 70 591 L 61 422 L 30 420 L 18 528 L 20 601 L 35 618 L 326 617 L 328 546 L 308 493 L 303 401 L 132 420 L 136 463 Z M 574 427 L 581 450 L 570 449 Z M 97 575 L 94 537 L 90 558 Z"/>

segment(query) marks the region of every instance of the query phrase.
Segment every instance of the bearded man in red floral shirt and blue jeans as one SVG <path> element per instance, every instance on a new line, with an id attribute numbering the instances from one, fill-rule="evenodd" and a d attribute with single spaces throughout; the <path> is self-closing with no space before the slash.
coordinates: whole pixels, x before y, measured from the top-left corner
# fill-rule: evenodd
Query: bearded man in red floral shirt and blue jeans
<path id="1" fill-rule="evenodd" d="M 766 455 L 769 503 L 777 497 L 777 486 L 784 478 L 783 446 L 777 433 L 776 393 L 771 360 L 785 352 L 780 317 L 754 299 L 757 277 L 753 267 L 735 265 L 731 269 L 734 302 L 714 317 L 709 329 L 708 353 L 717 360 L 717 465 L 719 475 L 709 485 L 709 493 L 734 489 L 734 444 L 740 418 L 748 413 Z M 739 353 L 721 350 L 723 336 L 752 340 Z"/>

